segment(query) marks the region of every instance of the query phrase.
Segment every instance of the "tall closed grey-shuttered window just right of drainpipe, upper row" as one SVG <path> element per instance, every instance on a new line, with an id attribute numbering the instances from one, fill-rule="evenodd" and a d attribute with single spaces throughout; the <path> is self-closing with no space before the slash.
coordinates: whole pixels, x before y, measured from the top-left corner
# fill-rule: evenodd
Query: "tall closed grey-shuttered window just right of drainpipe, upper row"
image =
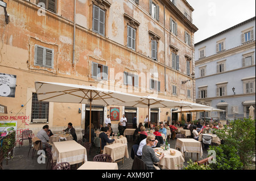
<path id="1" fill-rule="evenodd" d="M 105 11 L 93 5 L 93 27 L 92 30 L 105 36 Z"/>

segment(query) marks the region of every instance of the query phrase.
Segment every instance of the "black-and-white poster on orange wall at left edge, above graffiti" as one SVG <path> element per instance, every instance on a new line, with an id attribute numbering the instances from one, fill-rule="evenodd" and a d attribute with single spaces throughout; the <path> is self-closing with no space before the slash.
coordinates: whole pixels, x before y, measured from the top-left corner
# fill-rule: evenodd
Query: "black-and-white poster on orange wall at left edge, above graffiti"
<path id="1" fill-rule="evenodd" d="M 15 98 L 16 75 L 0 73 L 0 96 Z"/>

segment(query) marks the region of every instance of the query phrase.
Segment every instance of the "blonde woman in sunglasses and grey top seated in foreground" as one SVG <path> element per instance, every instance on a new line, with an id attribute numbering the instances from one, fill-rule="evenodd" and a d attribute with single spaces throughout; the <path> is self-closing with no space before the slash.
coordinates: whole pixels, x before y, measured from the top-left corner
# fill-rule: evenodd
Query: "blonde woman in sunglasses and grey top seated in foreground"
<path id="1" fill-rule="evenodd" d="M 164 157 L 164 153 L 158 158 L 152 146 L 155 144 L 155 136 L 149 135 L 146 139 L 146 145 L 142 149 L 142 160 L 146 163 L 148 170 L 155 170 L 154 163 L 160 162 Z"/>

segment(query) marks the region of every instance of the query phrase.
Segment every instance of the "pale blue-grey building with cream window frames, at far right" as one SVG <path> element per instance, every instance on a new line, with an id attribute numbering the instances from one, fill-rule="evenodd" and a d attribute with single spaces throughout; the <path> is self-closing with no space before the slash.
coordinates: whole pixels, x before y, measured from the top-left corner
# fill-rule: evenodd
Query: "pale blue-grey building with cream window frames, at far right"
<path id="1" fill-rule="evenodd" d="M 249 117 L 255 108 L 255 17 L 195 44 L 196 102 L 225 112 L 213 119 Z"/>

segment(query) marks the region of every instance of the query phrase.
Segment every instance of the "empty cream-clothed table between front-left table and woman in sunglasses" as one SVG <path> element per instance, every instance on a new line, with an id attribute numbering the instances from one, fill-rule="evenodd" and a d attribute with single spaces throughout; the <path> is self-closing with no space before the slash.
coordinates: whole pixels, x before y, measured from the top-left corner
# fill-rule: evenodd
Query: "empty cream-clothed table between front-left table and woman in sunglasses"
<path id="1" fill-rule="evenodd" d="M 123 161 L 123 157 L 129 158 L 127 144 L 122 144 L 121 142 L 104 146 L 103 154 L 109 154 L 113 162 L 118 159 Z"/>

